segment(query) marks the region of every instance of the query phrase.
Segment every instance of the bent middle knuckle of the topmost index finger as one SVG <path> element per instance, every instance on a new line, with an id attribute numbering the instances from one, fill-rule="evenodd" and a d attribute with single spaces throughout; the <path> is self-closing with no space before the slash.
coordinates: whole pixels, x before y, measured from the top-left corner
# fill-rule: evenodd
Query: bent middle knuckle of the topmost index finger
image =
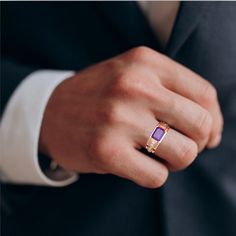
<path id="1" fill-rule="evenodd" d="M 204 81 L 201 100 L 203 104 L 208 106 L 211 105 L 213 101 L 217 100 L 217 91 L 208 81 Z"/>

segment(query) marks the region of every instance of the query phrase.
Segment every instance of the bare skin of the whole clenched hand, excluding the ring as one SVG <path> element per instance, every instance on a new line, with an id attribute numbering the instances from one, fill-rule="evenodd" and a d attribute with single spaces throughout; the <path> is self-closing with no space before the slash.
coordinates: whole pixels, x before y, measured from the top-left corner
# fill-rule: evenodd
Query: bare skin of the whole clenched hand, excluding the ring
<path id="1" fill-rule="evenodd" d="M 171 129 L 156 159 L 140 152 L 157 121 Z M 220 143 L 217 93 L 205 79 L 147 47 L 88 67 L 53 92 L 39 149 L 66 170 L 114 174 L 157 188 L 170 170 Z"/>

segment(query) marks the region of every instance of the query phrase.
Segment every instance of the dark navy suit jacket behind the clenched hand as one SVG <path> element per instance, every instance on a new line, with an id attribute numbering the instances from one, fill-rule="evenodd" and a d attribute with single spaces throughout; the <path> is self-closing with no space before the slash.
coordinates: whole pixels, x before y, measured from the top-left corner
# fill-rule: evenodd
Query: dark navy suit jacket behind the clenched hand
<path id="1" fill-rule="evenodd" d="M 236 3 L 184 2 L 165 49 L 135 2 L 1 2 L 2 110 L 40 68 L 80 70 L 132 47 L 162 51 L 217 88 L 223 141 L 149 190 L 111 175 L 65 188 L 2 185 L 2 235 L 236 235 Z M 10 145 L 10 144 L 9 144 Z"/>

